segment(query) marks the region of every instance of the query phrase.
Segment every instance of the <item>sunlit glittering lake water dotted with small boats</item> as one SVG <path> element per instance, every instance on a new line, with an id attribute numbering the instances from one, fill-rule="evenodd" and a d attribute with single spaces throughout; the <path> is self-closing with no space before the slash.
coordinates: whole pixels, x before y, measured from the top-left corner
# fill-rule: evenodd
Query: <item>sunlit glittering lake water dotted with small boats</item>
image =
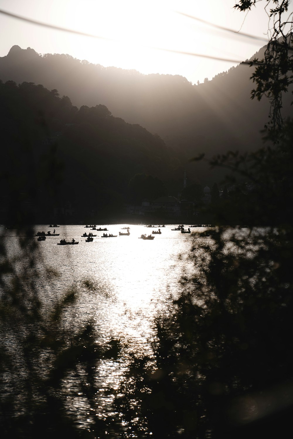
<path id="1" fill-rule="evenodd" d="M 119 236 L 119 231 L 126 232 L 122 230 L 125 226 L 130 227 L 130 236 Z M 161 228 L 162 234 L 155 235 L 152 241 L 138 237 L 158 228 L 129 224 L 101 227 L 108 229 L 105 233 L 118 236 L 104 238 L 104 232 L 83 225 L 60 226 L 55 228 L 58 237 L 47 237 L 37 245 L 43 254 L 40 272 L 47 265 L 59 273 L 58 277 L 52 276 L 49 284 L 46 277 L 38 280 L 45 308 L 50 309 L 69 288 L 74 288 L 78 299 L 66 314 L 66 324 L 72 331 L 90 320 L 97 329 L 99 342 L 105 344 L 115 338 L 123 345 L 120 359 L 101 361 L 97 371 L 100 403 L 105 408 L 112 401 L 107 389 L 119 387 L 129 353 L 151 352 L 155 318 L 167 313 L 172 299 L 181 290 L 181 277 L 192 273 L 193 262 L 188 256 L 194 239 L 191 234 L 171 230 L 177 225 Z M 34 230 L 53 233 L 54 229 L 37 225 Z M 93 242 L 86 242 L 82 235 L 90 231 L 98 236 Z M 79 244 L 57 245 L 63 238 L 74 238 Z M 37 237 L 32 239 L 36 241 Z M 6 230 L 5 240 L 15 251 L 18 239 L 14 230 Z M 90 287 L 84 286 L 86 281 Z M 84 408 L 74 410 L 83 417 Z"/>

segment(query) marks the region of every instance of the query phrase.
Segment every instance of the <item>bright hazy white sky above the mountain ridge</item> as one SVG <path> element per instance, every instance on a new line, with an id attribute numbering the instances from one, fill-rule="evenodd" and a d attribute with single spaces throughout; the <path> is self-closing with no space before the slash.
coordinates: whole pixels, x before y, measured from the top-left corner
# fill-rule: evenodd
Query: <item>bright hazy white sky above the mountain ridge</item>
<path id="1" fill-rule="evenodd" d="M 17 44 L 22 49 L 32 47 L 41 54 L 65 53 L 105 67 L 178 74 L 192 83 L 203 82 L 205 77 L 212 79 L 238 63 L 174 54 L 153 47 L 239 61 L 250 58 L 264 46 L 264 41 L 215 29 L 178 14 L 183 12 L 267 38 L 266 0 L 258 2 L 247 15 L 233 9 L 235 3 L 236 0 L 0 0 L 2 10 L 106 38 L 46 29 L 0 14 L 0 56 L 7 55 Z M 292 4 L 290 8 L 292 11 Z"/>

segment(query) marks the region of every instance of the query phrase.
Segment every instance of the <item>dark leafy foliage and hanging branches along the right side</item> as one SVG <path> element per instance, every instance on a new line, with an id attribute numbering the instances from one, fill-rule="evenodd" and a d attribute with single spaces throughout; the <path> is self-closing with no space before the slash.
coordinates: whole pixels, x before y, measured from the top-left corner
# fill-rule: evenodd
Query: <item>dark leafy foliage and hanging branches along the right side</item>
<path id="1" fill-rule="evenodd" d="M 194 272 L 182 279 L 169 316 L 157 318 L 153 354 L 134 359 L 117 410 L 137 437 L 275 438 L 290 429 L 293 122 L 280 119 L 279 110 L 292 51 L 290 35 L 278 41 L 289 2 L 273 4 L 274 32 L 253 73 L 253 96 L 271 99 L 268 138 L 277 145 L 211 162 L 230 171 L 230 183 L 241 175 L 247 184 L 226 191 L 221 202 L 213 187 L 219 225 L 194 235 Z M 227 219 L 250 227 L 221 227 Z"/>

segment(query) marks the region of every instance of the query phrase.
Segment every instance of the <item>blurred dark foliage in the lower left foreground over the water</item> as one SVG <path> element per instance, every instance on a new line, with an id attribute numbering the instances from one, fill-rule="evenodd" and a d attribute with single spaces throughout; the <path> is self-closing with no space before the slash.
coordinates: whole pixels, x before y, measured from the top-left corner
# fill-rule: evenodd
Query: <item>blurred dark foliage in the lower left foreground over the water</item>
<path id="1" fill-rule="evenodd" d="M 116 359 L 119 343 L 101 345 L 91 322 L 72 323 L 78 292 L 57 294 L 58 273 L 46 266 L 32 232 L 18 230 L 13 257 L 10 241 L 0 237 L 1 437 L 96 437 L 115 422 L 97 416 L 95 367 Z M 80 428 L 84 411 L 89 422 Z"/>

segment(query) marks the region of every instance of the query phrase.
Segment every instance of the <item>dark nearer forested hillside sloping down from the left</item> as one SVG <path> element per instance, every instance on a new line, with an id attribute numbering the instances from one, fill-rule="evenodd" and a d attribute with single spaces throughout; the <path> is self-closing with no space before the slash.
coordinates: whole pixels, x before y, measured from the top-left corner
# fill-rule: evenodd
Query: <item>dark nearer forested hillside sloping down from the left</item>
<path id="1" fill-rule="evenodd" d="M 152 176 L 153 198 L 182 186 L 183 169 L 163 140 L 105 105 L 78 109 L 56 89 L 7 81 L 0 83 L 0 120 L 7 221 L 15 221 L 20 205 L 45 222 L 54 207 L 72 207 L 78 218 L 123 212 L 137 173 Z"/>

